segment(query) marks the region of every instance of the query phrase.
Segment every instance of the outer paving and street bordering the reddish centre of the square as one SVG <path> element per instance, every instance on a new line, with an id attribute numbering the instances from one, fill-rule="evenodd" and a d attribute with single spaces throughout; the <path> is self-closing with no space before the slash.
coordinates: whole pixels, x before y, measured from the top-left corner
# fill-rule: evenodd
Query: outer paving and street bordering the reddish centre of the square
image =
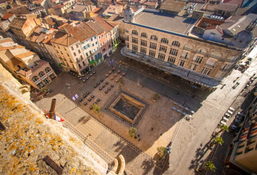
<path id="1" fill-rule="evenodd" d="M 59 77 L 54 80 L 54 83 L 49 84 L 47 87 L 52 89 L 52 93 L 37 102 L 37 105 L 42 110 L 43 108 L 49 109 L 51 98 L 56 98 L 56 111 L 60 116 L 65 116 L 65 118 L 75 126 L 75 130 L 79 130 L 77 133 L 82 135 L 81 137 L 92 141 L 93 146 L 91 147 L 94 147 L 94 144 L 98 145 L 95 147 L 99 155 L 109 155 L 115 158 L 119 153 L 124 154 L 127 169 L 135 175 L 195 174 L 195 169 L 199 165 L 199 162 L 208 157 L 208 155 L 203 154 L 200 156 L 201 159 L 199 159 L 199 150 L 202 150 L 200 153 L 204 152 L 203 150 L 205 150 L 204 148 L 208 144 L 211 134 L 215 130 L 220 118 L 244 87 L 253 69 L 249 68 L 249 71 L 246 71 L 244 74 L 236 70 L 233 71 L 231 75 L 222 82 L 227 84 L 223 89 L 217 89 L 213 93 L 210 93 L 191 88 L 191 85 L 184 83 L 177 76 L 166 75 L 168 76 L 167 78 L 164 73 L 155 70 L 145 73 L 147 72 L 145 65 L 135 64 L 133 61 L 129 63 L 129 59 L 123 57 L 119 51 L 115 52 L 112 58 L 115 60 L 114 66 L 117 69 L 126 71 L 126 78 L 129 81 L 137 84 L 137 86 L 144 86 L 146 90 L 149 89 L 161 94 L 165 97 L 161 100 L 167 99 L 185 104 L 195 111 L 192 119 L 186 120 L 182 118 L 176 123 L 176 127 L 173 128 L 174 134 L 164 134 L 162 136 L 166 139 L 166 142 L 172 142 L 171 154 L 164 171 L 160 171 L 157 167 L 154 167 L 155 162 L 148 154 L 144 153 L 144 151 L 147 152 L 147 150 L 142 152 L 138 147 L 134 146 L 138 143 L 123 138 L 115 129 L 111 130 L 106 126 L 106 123 L 102 123 L 102 121 L 107 122 L 107 117 L 92 117 L 90 112 L 88 112 L 88 106 L 84 107 L 83 104 L 82 106 L 78 106 L 77 102 L 71 102 L 71 97 L 75 93 L 77 93 L 80 98 L 82 98 L 83 94 L 87 91 L 94 93 L 95 88 L 93 88 L 92 85 L 96 84 L 99 79 L 104 78 L 103 75 L 106 74 L 107 70 L 111 69 L 112 66 L 109 63 L 110 59 L 92 68 L 92 71 L 96 71 L 97 73 L 92 77 L 86 74 L 86 77 L 89 77 L 86 83 L 83 83 L 83 81 L 74 76 L 67 76 L 65 73 L 59 75 Z M 118 60 L 125 60 L 127 64 L 121 65 L 117 63 Z M 142 72 L 144 73 L 142 74 Z M 232 81 L 238 76 L 241 76 L 238 79 L 240 85 L 235 90 L 231 90 L 233 86 Z M 71 85 L 66 87 L 67 84 Z M 177 95 L 178 93 L 179 95 Z M 194 95 L 194 97 L 192 97 L 192 95 Z M 167 104 L 169 104 L 169 102 Z M 87 112 L 85 112 L 85 110 Z M 164 123 L 173 122 L 172 120 L 167 122 L 158 117 L 152 118 L 151 120 L 156 123 L 161 121 Z M 113 121 L 114 123 L 118 123 L 116 119 Z M 139 123 L 139 126 L 140 125 L 141 123 Z M 126 124 L 120 124 L 117 125 L 117 127 L 126 128 L 128 126 L 126 126 Z M 127 131 L 125 130 L 124 132 Z M 150 134 L 147 135 L 147 137 L 155 136 Z"/>

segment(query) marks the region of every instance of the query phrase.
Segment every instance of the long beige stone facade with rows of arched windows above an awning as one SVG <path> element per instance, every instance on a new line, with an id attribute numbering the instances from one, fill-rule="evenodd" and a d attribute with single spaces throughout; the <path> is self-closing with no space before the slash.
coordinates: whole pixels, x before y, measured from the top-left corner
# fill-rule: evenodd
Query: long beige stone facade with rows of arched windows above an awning
<path id="1" fill-rule="evenodd" d="M 151 15 L 151 12 L 139 13 L 142 13 L 139 17 Z M 153 15 L 156 16 L 156 14 Z M 135 18 L 134 13 L 129 9 L 125 11 L 124 55 L 178 75 L 196 86 L 214 89 L 242 54 L 241 51 L 225 44 L 185 35 L 189 26 L 182 26 L 184 24 L 181 23 L 179 27 L 179 20 L 183 21 L 183 18 L 174 19 L 177 20 L 178 25 L 174 28 L 176 30 L 174 32 L 174 30 L 168 30 L 169 27 L 165 28 L 167 25 L 165 23 L 169 23 L 168 20 L 171 19 L 162 21 L 162 16 L 156 17 L 156 20 L 158 18 L 160 20 L 157 21 L 160 23 L 158 26 L 158 24 L 152 24 L 153 22 L 143 21 L 139 17 Z M 152 18 L 152 20 L 155 19 Z M 164 29 L 158 28 L 162 26 Z"/>

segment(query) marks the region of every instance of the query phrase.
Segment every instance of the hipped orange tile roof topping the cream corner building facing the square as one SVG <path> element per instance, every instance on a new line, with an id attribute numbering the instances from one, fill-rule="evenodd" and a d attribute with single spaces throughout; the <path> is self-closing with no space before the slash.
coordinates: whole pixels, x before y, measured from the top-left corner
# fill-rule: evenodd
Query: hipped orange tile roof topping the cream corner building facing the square
<path id="1" fill-rule="evenodd" d="M 73 36 L 68 36 L 67 33 L 58 31 L 55 37 L 51 40 L 51 43 L 56 43 L 63 46 L 71 46 L 78 42 Z"/>

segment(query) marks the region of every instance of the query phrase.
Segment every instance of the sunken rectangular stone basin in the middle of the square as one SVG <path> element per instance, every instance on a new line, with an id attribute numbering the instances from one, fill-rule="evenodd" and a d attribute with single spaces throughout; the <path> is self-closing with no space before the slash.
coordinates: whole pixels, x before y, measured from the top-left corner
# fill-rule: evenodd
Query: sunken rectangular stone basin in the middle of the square
<path id="1" fill-rule="evenodd" d="M 108 110 L 130 124 L 136 125 L 145 107 L 144 103 L 122 92 L 109 106 Z"/>

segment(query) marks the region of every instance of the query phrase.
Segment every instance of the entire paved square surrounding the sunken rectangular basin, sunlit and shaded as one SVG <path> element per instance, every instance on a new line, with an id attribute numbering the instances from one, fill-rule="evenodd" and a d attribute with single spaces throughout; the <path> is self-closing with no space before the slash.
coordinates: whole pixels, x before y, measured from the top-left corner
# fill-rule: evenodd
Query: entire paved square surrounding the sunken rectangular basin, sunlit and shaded
<path id="1" fill-rule="evenodd" d="M 57 99 L 55 111 L 57 115 L 66 119 L 64 126 L 81 137 L 88 147 L 107 162 L 111 162 L 113 158 L 122 154 L 125 157 L 126 169 L 134 175 L 196 174 L 197 166 L 208 158 L 208 154 L 204 154 L 205 145 L 210 141 L 226 109 L 234 102 L 252 75 L 254 71 L 252 67 L 256 64 L 253 62 L 253 66 L 251 65 L 244 74 L 234 70 L 222 82 L 226 86 L 211 93 L 192 88 L 177 76 L 166 75 L 154 68 L 149 70 L 146 65 L 135 64 L 133 60 L 123 57 L 120 50 L 114 53 L 112 59 L 114 59 L 116 71 L 120 69 L 121 72 L 126 72 L 122 78 L 123 85 L 115 82 L 117 78 L 110 79 L 113 74 L 105 77 L 112 69 L 108 58 L 92 68 L 91 72 L 95 71 L 95 74 L 90 76 L 90 72 L 83 77 L 83 79 L 89 78 L 86 82 L 72 74 L 61 73 L 47 87 L 52 92 L 36 104 L 42 110 L 44 108 L 49 110 L 51 99 Z M 124 60 L 126 64 L 120 64 L 119 60 Z M 238 76 L 240 76 L 238 79 L 240 85 L 235 90 L 231 90 L 234 85 L 233 80 Z M 104 80 L 100 81 L 101 79 Z M 94 87 L 97 83 L 99 85 Z M 111 85 L 114 86 L 111 87 Z M 99 90 L 99 87 L 102 87 L 102 90 Z M 111 89 L 105 93 L 107 88 Z M 83 95 L 87 92 L 90 94 L 84 98 Z M 138 137 L 135 139 L 129 136 L 131 124 L 107 110 L 110 103 L 121 92 L 148 105 L 135 126 L 140 140 Z M 72 100 L 72 96 L 76 93 L 79 99 L 83 100 L 80 105 L 78 101 Z M 160 98 L 153 102 L 152 97 L 156 93 Z M 91 95 L 94 97 L 91 98 Z M 91 99 L 90 102 L 88 98 Z M 101 107 L 98 114 L 89 109 L 96 99 L 100 99 L 97 102 Z M 87 105 L 84 105 L 85 102 Z M 176 110 L 172 110 L 172 107 Z M 185 110 L 185 107 L 195 112 L 191 119 L 186 119 L 191 113 Z M 239 111 L 240 105 L 233 108 Z M 159 146 L 166 147 L 170 143 L 171 154 L 166 167 L 162 170 L 155 166 L 158 160 L 156 149 Z"/>

